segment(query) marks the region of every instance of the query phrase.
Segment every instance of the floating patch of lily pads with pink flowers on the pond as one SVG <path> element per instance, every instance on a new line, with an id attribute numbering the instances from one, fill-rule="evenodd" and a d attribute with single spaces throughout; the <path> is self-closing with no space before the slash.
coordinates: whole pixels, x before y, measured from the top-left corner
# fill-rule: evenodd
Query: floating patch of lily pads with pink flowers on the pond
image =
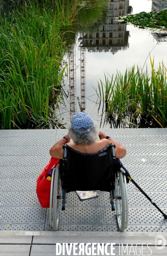
<path id="1" fill-rule="evenodd" d="M 167 10 L 161 12 L 140 12 L 120 19 L 123 19 L 123 23 L 130 22 L 140 28 L 164 26 L 167 29 Z"/>

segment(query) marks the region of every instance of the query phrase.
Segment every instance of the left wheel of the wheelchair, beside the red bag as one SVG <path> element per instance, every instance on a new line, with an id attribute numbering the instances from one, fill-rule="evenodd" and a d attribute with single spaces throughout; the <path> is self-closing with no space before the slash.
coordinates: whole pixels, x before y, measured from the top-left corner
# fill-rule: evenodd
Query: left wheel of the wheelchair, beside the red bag
<path id="1" fill-rule="evenodd" d="M 52 204 L 50 207 L 50 226 L 53 227 L 54 231 L 58 229 L 58 224 L 59 224 L 60 197 L 61 197 L 61 179 L 59 176 L 59 165 L 57 165 L 55 170 L 54 185 L 53 185 L 53 209 L 52 209 Z"/>

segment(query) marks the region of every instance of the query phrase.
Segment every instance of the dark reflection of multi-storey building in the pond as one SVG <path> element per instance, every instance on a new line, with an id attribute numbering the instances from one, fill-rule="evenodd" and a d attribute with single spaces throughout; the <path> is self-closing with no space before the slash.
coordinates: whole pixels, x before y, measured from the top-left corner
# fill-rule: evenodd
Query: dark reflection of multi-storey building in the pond
<path id="1" fill-rule="evenodd" d="M 108 3 L 105 24 L 102 24 L 97 32 L 81 32 L 79 47 L 85 47 L 88 52 L 111 52 L 129 48 L 129 31 L 126 24 L 118 21 L 119 16 L 132 12 L 129 0 L 114 0 Z"/>

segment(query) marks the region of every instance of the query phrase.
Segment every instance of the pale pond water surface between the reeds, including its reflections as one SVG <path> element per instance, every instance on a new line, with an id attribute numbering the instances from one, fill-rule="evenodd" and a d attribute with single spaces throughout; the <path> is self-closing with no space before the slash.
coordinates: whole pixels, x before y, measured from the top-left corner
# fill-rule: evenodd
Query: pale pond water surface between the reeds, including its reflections
<path id="1" fill-rule="evenodd" d="M 86 5 L 88 1 L 83 3 Z M 94 90 L 100 79 L 104 81 L 104 73 L 115 76 L 117 70 L 124 73 L 127 67 L 131 68 L 133 65 L 140 65 L 144 70 L 147 65 L 150 72 L 149 53 L 154 58 L 155 68 L 162 61 L 167 67 L 167 37 L 157 38 L 152 30 L 140 29 L 132 24 L 120 24 L 114 18 L 124 12 L 135 14 L 160 11 L 167 8 L 167 1 L 124 0 L 121 3 L 119 0 L 103 1 L 108 8 L 104 23 L 96 31 L 80 30 L 76 33 L 75 44 L 66 59 L 67 63 L 70 61 L 69 79 L 65 81 L 66 85 L 70 83 L 70 95 L 67 100 L 64 99 L 65 107 L 59 105 L 60 120 L 63 120 L 65 128 L 68 128 L 73 114 L 80 110 L 91 114 L 101 128 L 111 127 L 104 121 L 104 115 L 101 117 L 102 108 L 99 109 Z M 96 12 L 93 4 L 91 6 L 89 3 L 88 8 L 94 8 Z"/>

